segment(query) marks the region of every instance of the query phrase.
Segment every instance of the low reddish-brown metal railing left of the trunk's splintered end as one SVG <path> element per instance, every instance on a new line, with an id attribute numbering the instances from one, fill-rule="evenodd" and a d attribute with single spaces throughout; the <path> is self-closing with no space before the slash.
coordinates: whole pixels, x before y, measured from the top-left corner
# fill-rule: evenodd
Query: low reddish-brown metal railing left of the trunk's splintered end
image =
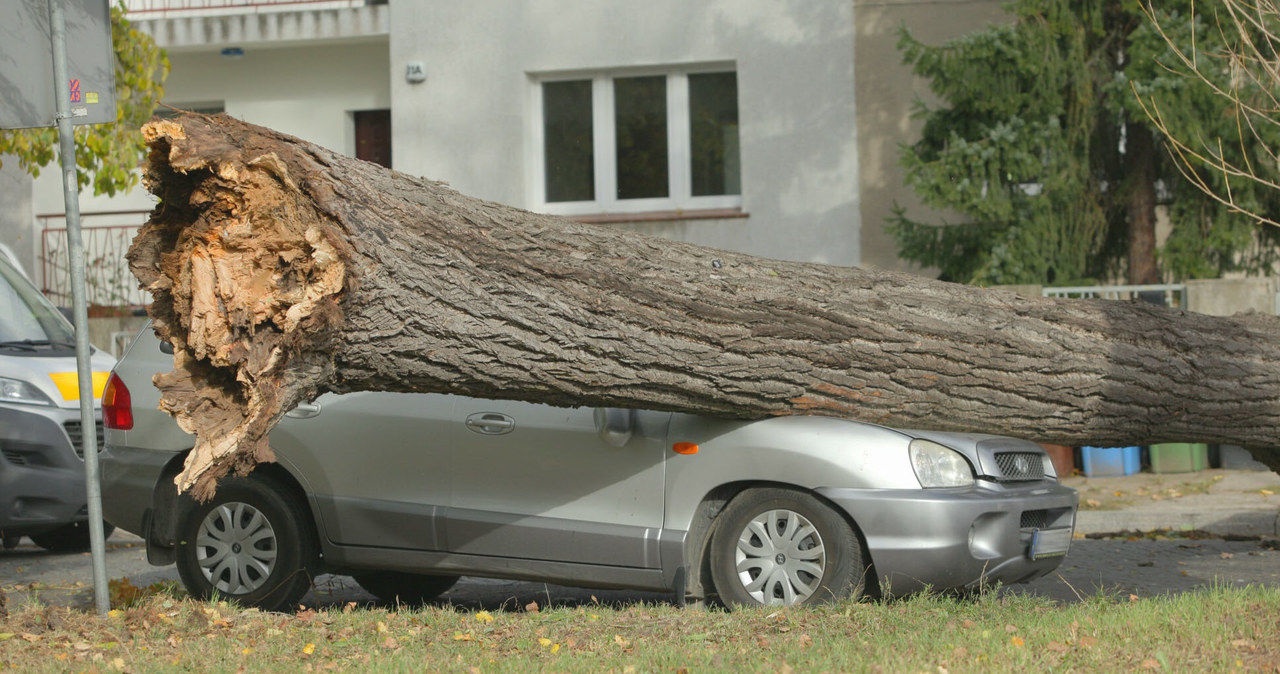
<path id="1" fill-rule="evenodd" d="M 81 240 L 84 246 L 84 292 L 90 307 L 141 307 L 151 298 L 138 289 L 124 253 L 150 211 L 83 214 Z M 60 307 L 72 306 L 70 262 L 63 214 L 38 216 L 41 233 L 41 280 L 45 297 Z M 136 224 L 106 224 L 133 220 Z M 92 223 L 104 223 L 93 226 Z"/>

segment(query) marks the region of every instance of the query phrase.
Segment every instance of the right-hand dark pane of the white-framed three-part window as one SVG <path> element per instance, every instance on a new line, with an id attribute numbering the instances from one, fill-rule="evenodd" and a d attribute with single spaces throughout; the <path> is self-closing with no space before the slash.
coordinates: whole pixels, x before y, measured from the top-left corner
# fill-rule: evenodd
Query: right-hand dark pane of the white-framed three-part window
<path id="1" fill-rule="evenodd" d="M 689 75 L 689 134 L 694 196 L 741 194 L 736 73 Z"/>

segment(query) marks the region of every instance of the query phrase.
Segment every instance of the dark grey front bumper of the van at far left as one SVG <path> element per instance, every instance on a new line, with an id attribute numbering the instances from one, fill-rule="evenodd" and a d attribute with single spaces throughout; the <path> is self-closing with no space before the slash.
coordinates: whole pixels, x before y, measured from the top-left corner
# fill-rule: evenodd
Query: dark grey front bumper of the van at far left
<path id="1" fill-rule="evenodd" d="M 101 421 L 99 421 L 101 427 Z M 88 521 L 79 409 L 0 404 L 0 532 L 29 536 Z M 99 448 L 102 446 L 99 434 Z"/>

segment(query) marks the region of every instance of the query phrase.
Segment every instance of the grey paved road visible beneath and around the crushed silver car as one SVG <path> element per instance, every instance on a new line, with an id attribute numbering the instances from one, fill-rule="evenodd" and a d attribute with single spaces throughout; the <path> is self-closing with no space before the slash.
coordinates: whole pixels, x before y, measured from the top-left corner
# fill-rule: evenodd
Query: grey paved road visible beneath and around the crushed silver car
<path id="1" fill-rule="evenodd" d="M 1100 592 L 1128 597 L 1179 593 L 1221 583 L 1280 587 L 1280 541 L 1224 540 L 1076 540 L 1059 570 L 1007 592 L 1028 592 L 1073 602 Z M 129 578 L 138 586 L 177 581 L 174 567 L 146 563 L 142 541 L 116 532 L 108 540 L 108 577 Z M 90 607 L 93 602 L 90 555 L 51 554 L 31 544 L 0 551 L 0 590 L 13 607 L 32 597 L 45 604 Z M 468 609 L 522 607 L 532 601 L 577 605 L 593 597 L 607 604 L 666 602 L 669 595 L 600 591 L 463 578 L 442 601 Z M 321 576 L 303 604 L 308 606 L 360 604 L 376 600 L 347 577 Z"/>

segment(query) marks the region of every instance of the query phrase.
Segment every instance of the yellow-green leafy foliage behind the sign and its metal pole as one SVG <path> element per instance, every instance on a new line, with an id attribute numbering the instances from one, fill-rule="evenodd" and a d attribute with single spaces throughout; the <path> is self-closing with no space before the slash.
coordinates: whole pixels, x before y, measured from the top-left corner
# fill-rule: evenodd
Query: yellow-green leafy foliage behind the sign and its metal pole
<path id="1" fill-rule="evenodd" d="M 164 96 L 169 59 L 150 36 L 124 18 L 123 5 L 111 8 L 111 47 L 115 51 L 115 124 L 76 127 L 77 179 L 95 194 L 115 194 L 138 183 L 137 169 L 146 143 L 138 129 Z M 0 132 L 0 155 L 13 155 L 31 175 L 40 175 L 56 156 L 58 129 Z"/>

